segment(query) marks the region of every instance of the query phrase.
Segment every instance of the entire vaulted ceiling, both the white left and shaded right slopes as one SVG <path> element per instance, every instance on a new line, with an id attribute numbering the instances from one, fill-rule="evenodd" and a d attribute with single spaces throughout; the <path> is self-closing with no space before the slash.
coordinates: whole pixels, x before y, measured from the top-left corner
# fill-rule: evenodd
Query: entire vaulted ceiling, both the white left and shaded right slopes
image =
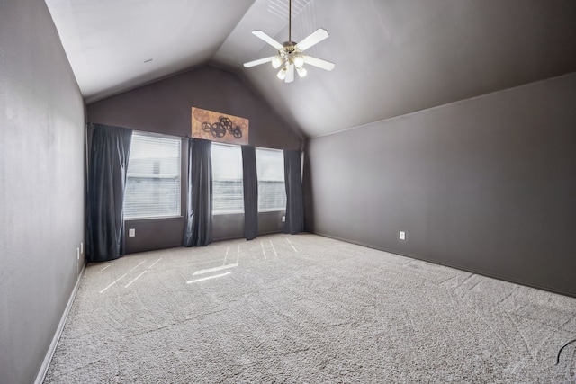
<path id="1" fill-rule="evenodd" d="M 293 0 L 293 40 L 336 63 L 284 84 L 253 36 L 288 0 L 46 0 L 86 103 L 205 63 L 246 77 L 317 137 L 576 71 L 573 0 Z M 149 59 L 152 61 L 148 61 Z"/>

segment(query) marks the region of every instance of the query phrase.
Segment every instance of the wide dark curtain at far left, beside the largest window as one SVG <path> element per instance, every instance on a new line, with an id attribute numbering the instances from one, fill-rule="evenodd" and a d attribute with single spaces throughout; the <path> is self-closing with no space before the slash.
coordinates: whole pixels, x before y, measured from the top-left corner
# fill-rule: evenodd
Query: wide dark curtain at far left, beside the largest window
<path id="1" fill-rule="evenodd" d="M 88 174 L 88 262 L 124 255 L 124 187 L 131 129 L 94 125 Z"/>

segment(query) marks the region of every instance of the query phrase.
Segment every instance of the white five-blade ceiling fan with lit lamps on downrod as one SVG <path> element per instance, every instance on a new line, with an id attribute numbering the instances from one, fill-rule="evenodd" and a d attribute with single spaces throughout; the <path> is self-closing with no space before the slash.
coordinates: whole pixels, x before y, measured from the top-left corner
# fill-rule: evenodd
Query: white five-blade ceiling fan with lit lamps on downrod
<path id="1" fill-rule="evenodd" d="M 268 36 L 264 31 L 259 30 L 252 31 L 252 34 L 277 49 L 278 54 L 269 58 L 259 58 L 247 62 L 244 64 L 244 67 L 255 67 L 260 64 L 272 62 L 272 67 L 276 69 L 280 68 L 277 76 L 280 80 L 284 80 L 285 83 L 292 83 L 294 81 L 294 72 L 297 72 L 298 76 L 306 76 L 307 71 L 306 68 L 303 67 L 304 64 L 310 64 L 311 66 L 319 67 L 327 71 L 331 71 L 336 67 L 334 63 L 327 60 L 313 58 L 302 53 L 320 41 L 327 39 L 329 37 L 328 31 L 319 28 L 301 42 L 297 43 L 292 40 L 292 0 L 289 0 L 288 3 L 288 41 L 281 44 Z"/>

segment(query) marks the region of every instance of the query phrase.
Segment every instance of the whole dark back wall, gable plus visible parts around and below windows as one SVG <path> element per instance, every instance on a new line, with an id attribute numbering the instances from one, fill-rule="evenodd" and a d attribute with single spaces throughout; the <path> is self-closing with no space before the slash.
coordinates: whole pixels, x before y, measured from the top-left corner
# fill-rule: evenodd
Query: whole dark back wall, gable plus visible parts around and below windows
<path id="1" fill-rule="evenodd" d="M 88 120 L 130 129 L 186 137 L 191 135 L 191 108 L 199 107 L 247 118 L 249 144 L 256 147 L 301 149 L 302 138 L 241 77 L 204 66 L 144 85 L 87 106 Z M 183 154 L 187 154 L 184 145 Z M 185 174 L 185 164 L 183 174 Z M 185 180 L 185 178 L 183 178 Z M 183 196 L 185 190 L 183 188 Z M 182 204 L 183 211 L 185 201 Z M 261 233 L 284 228 L 284 212 L 258 215 Z M 243 215 L 215 216 L 215 240 L 244 236 Z M 130 220 L 136 237 L 126 237 L 126 252 L 180 246 L 184 219 Z"/>

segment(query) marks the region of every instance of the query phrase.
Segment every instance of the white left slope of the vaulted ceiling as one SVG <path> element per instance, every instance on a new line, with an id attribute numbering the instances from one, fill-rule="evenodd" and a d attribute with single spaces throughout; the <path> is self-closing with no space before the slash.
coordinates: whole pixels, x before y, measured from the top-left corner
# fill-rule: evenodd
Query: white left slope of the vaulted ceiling
<path id="1" fill-rule="evenodd" d="M 87 103 L 210 60 L 252 3 L 46 0 Z"/>

